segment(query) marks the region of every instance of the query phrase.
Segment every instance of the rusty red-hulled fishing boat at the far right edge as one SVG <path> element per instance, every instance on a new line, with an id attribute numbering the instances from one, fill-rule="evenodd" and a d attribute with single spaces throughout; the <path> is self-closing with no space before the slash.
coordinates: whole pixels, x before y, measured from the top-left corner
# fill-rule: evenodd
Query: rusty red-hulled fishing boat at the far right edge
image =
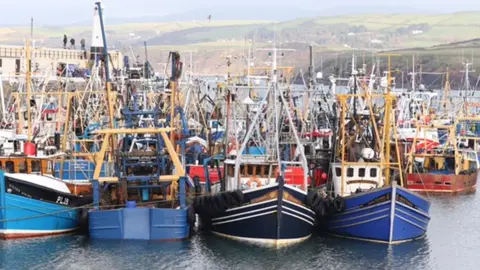
<path id="1" fill-rule="evenodd" d="M 410 150 L 407 188 L 425 193 L 475 191 L 480 165 L 477 152 L 458 142 L 456 125 L 437 129 L 445 131 L 444 144 L 433 149 L 412 147 Z"/>

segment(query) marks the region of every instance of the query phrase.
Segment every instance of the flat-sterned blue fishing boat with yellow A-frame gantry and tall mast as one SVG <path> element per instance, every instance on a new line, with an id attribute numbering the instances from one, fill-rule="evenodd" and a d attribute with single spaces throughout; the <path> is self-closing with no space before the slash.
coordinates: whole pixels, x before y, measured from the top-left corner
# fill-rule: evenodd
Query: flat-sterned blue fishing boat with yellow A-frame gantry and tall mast
<path id="1" fill-rule="evenodd" d="M 107 100 L 111 101 L 102 7 L 100 2 L 96 5 L 105 45 Z M 108 102 L 109 128 L 96 131 L 101 136 L 101 147 L 92 180 L 94 204 L 88 213 L 89 235 L 93 239 L 170 241 L 189 236 L 194 213 L 186 205 L 186 174 L 174 147 L 175 129 L 163 127 L 175 126 L 175 87 L 182 69 L 179 53 L 171 52 L 169 59 L 169 121 L 160 119 L 165 116 L 160 108 L 163 102 L 151 109 L 141 106 L 137 92 L 127 99 L 132 103 L 121 109 L 125 125 L 116 127 L 114 107 Z M 115 160 L 114 175 L 100 175 L 105 160 Z"/>

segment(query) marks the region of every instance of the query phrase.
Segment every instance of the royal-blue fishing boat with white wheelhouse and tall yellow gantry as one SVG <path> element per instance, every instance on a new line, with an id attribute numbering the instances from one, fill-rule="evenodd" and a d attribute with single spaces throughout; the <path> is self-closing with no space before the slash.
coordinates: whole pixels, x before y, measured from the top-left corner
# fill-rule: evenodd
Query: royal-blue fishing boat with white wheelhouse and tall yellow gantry
<path id="1" fill-rule="evenodd" d="M 401 186 L 398 141 L 392 149 L 390 140 L 395 130 L 391 124 L 393 95 L 390 91 L 380 96 L 346 94 L 338 95 L 338 99 L 340 159 L 332 163 L 332 182 L 324 198 L 321 228 L 336 236 L 387 244 L 423 237 L 430 221 L 430 203 Z M 356 99 L 366 105 L 357 109 L 370 113 L 360 114 L 355 106 L 347 106 L 357 103 Z M 381 104 L 378 99 L 385 104 L 383 120 L 372 108 L 373 102 Z"/>

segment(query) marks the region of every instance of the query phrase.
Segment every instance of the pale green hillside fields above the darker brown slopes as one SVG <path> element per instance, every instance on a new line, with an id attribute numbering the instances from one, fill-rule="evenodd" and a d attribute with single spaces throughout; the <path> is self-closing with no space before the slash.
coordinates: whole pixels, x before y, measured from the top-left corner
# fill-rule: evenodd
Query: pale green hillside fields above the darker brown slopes
<path id="1" fill-rule="evenodd" d="M 185 21 L 130 23 L 108 26 L 107 34 L 113 42 L 127 45 L 141 45 L 146 40 L 151 46 L 188 46 L 207 49 L 221 47 L 221 40 L 233 44 L 244 37 L 253 37 L 257 42 L 266 43 L 273 37 L 279 43 L 300 41 L 320 42 L 326 47 L 339 48 L 343 43 L 361 43 L 368 47 L 371 39 L 383 41 L 383 49 L 429 47 L 437 44 L 457 42 L 480 37 L 480 12 L 459 12 L 451 14 L 362 14 L 349 16 L 299 18 L 291 21 Z M 412 25 L 426 24 L 428 29 L 414 35 Z M 362 27 L 355 37 L 347 34 L 355 27 Z M 409 28 L 410 27 L 410 28 Z M 401 34 L 398 34 L 402 28 Z M 274 33 L 275 30 L 275 33 Z M 89 27 L 38 27 L 37 39 L 58 43 L 63 34 L 77 39 L 90 39 Z M 0 41 L 20 43 L 28 37 L 28 28 L 0 28 Z M 352 41 L 354 40 L 354 41 Z M 220 42 L 221 43 L 221 42 Z"/>

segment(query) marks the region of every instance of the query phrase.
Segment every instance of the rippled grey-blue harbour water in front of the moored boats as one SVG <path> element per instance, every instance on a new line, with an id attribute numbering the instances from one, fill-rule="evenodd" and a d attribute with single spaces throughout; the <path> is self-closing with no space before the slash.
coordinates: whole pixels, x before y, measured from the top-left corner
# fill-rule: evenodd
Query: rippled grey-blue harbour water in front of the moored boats
<path id="1" fill-rule="evenodd" d="M 478 269 L 480 196 L 430 196 L 426 238 L 387 246 L 317 235 L 271 250 L 212 235 L 174 243 L 84 236 L 0 242 L 0 269 Z"/>

